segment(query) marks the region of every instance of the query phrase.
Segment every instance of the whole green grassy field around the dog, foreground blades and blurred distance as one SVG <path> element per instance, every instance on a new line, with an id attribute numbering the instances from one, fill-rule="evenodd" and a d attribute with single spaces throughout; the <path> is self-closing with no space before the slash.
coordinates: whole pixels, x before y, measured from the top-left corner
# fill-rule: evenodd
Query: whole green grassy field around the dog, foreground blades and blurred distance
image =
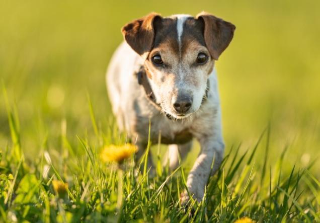
<path id="1" fill-rule="evenodd" d="M 0 0 L 0 222 L 320 221 L 319 9 L 315 0 Z M 216 63 L 225 160 L 187 208 L 179 194 L 197 143 L 174 174 L 161 166 L 164 145 L 150 146 L 154 176 L 132 158 L 100 159 L 126 141 L 108 102 L 108 61 L 121 27 L 152 11 L 207 11 L 236 26 Z"/>

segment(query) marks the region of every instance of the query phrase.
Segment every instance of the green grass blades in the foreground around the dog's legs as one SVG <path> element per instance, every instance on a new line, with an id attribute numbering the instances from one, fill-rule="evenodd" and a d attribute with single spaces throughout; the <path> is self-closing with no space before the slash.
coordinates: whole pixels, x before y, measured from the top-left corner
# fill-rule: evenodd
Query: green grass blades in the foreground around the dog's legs
<path id="1" fill-rule="evenodd" d="M 244 154 L 239 153 L 241 145 L 231 148 L 217 174 L 209 179 L 203 200 L 183 207 L 179 202 L 186 185 L 183 166 L 169 173 L 161 166 L 161 154 L 157 154 L 155 176 L 148 176 L 150 144 L 140 164 L 134 165 L 132 159 L 121 167 L 101 162 L 99 154 L 104 145 L 124 143 L 125 139 L 113 128 L 107 132 L 97 128 L 90 102 L 89 108 L 95 139 L 78 136 L 78 146 L 71 146 L 63 122 L 63 150 L 49 152 L 44 142 L 30 163 L 20 145 L 17 111 L 7 104 L 12 145 L 1 154 L 2 221 L 233 222 L 244 216 L 260 222 L 320 220 L 320 183 L 309 172 L 316 160 L 303 169 L 292 166 L 290 174 L 283 174 L 283 162 L 290 151 L 285 147 L 274 167 L 265 159 L 263 168 L 257 168 L 256 153 L 261 148 L 269 152 L 270 126 Z M 144 167 L 142 172 L 139 165 Z M 53 180 L 66 182 L 69 187 L 58 192 Z"/>

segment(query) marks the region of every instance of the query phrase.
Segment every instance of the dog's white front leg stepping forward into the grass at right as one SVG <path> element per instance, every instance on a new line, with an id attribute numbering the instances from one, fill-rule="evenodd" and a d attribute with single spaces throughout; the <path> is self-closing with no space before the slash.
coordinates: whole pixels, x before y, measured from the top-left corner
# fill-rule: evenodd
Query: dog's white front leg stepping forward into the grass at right
<path id="1" fill-rule="evenodd" d="M 219 140 L 216 137 L 205 137 L 198 140 L 201 145 L 201 152 L 188 175 L 187 187 L 193 198 L 200 202 L 210 173 L 214 174 L 221 164 L 224 143 L 222 139 Z M 213 169 L 211 170 L 212 162 Z M 181 202 L 186 203 L 188 200 L 189 195 L 185 191 L 181 195 Z"/>

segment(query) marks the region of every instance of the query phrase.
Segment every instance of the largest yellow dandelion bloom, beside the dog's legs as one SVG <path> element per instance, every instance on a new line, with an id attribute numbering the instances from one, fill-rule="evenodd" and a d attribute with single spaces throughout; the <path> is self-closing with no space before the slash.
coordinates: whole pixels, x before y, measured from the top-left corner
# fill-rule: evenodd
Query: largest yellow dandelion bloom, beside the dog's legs
<path id="1" fill-rule="evenodd" d="M 126 143 L 124 145 L 108 145 L 103 148 L 100 154 L 100 158 L 105 163 L 113 161 L 122 163 L 136 151 L 136 147 L 129 143 Z"/>

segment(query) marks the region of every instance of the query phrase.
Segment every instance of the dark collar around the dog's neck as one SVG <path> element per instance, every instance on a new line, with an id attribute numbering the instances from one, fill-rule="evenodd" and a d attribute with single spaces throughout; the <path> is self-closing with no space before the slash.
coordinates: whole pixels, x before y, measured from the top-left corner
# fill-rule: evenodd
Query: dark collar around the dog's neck
<path id="1" fill-rule="evenodd" d="M 149 102 L 158 110 L 158 111 L 162 111 L 162 107 L 161 107 L 161 104 L 157 103 L 156 102 L 156 99 L 155 99 L 155 95 L 152 91 L 152 88 L 150 86 L 150 83 L 148 81 L 148 78 L 146 76 L 146 72 L 145 72 L 145 69 L 144 69 L 144 66 L 141 65 L 139 70 L 136 72 L 136 76 L 137 76 L 137 79 L 138 79 L 138 84 L 139 85 L 142 85 L 143 89 L 144 89 L 144 92 L 145 92 L 145 95 L 147 97 L 147 99 L 149 100 Z M 206 91 L 205 91 L 205 95 L 203 96 L 202 98 L 202 103 L 203 104 L 207 98 L 208 98 L 208 92 L 209 92 L 209 89 L 210 89 L 210 85 L 209 85 L 209 79 L 207 81 L 207 87 L 206 87 Z M 167 114 L 166 115 L 169 119 L 172 119 L 172 116 Z"/>

